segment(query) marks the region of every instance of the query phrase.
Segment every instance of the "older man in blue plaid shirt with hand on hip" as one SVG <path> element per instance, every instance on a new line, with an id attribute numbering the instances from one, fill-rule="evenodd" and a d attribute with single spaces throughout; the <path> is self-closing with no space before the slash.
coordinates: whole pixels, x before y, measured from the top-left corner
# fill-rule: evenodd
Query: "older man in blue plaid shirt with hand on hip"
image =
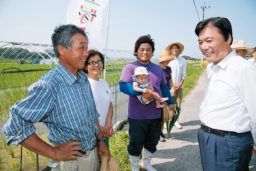
<path id="1" fill-rule="evenodd" d="M 106 155 L 110 160 L 110 151 L 99 129 L 90 83 L 80 70 L 88 57 L 87 36 L 77 26 L 63 25 L 56 27 L 52 42 L 59 63 L 10 108 L 3 127 L 7 143 L 50 158 L 52 171 L 99 171 L 99 158 Z M 37 136 L 36 122 L 46 124 L 53 146 Z"/>

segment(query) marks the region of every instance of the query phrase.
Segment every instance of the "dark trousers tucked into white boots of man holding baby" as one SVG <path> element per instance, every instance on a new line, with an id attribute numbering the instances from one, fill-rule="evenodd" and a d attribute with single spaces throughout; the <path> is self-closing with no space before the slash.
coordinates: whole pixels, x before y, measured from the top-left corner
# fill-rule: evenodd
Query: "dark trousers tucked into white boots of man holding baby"
<path id="1" fill-rule="evenodd" d="M 139 156 L 141 150 L 146 148 L 150 153 L 155 153 L 156 145 L 160 139 L 162 119 L 135 120 L 128 118 L 130 141 L 127 146 L 130 155 Z"/>

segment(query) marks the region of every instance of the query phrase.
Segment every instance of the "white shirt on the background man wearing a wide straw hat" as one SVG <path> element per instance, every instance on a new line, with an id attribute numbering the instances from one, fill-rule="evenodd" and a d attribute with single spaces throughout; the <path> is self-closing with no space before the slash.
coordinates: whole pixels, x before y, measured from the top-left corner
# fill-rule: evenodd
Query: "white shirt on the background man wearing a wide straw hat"
<path id="1" fill-rule="evenodd" d="M 185 79 L 186 77 L 186 69 L 187 69 L 187 60 L 180 57 L 180 55 L 177 58 L 174 58 L 174 60 L 171 60 L 168 64 L 169 67 L 172 69 L 172 78 L 174 86 L 177 86 L 181 83 L 181 79 Z M 183 85 L 181 86 L 183 88 Z"/>

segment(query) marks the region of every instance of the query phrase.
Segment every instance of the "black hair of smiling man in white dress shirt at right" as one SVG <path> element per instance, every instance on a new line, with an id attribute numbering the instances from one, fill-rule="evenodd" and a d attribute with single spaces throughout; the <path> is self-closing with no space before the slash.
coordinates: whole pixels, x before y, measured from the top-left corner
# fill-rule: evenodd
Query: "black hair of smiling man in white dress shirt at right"
<path id="1" fill-rule="evenodd" d="M 231 43 L 233 42 L 233 34 L 232 34 L 232 26 L 231 23 L 227 18 L 224 17 L 211 17 L 206 20 L 200 21 L 196 28 L 195 28 L 195 34 L 199 36 L 200 32 L 206 27 L 206 26 L 214 26 L 217 27 L 219 30 L 219 34 L 221 34 L 227 42 L 229 40 L 229 35 L 231 36 Z"/>

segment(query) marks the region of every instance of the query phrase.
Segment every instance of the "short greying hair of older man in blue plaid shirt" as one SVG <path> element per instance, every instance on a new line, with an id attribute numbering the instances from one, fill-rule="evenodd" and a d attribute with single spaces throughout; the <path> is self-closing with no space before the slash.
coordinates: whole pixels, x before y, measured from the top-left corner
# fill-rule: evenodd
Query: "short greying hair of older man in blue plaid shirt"
<path id="1" fill-rule="evenodd" d="M 73 44 L 73 36 L 75 34 L 82 34 L 88 40 L 87 35 L 84 33 L 82 28 L 78 26 L 68 24 L 60 25 L 55 28 L 54 33 L 52 34 L 52 43 L 57 58 L 60 57 L 58 45 L 61 45 L 65 47 L 67 51 L 70 51 Z"/>

